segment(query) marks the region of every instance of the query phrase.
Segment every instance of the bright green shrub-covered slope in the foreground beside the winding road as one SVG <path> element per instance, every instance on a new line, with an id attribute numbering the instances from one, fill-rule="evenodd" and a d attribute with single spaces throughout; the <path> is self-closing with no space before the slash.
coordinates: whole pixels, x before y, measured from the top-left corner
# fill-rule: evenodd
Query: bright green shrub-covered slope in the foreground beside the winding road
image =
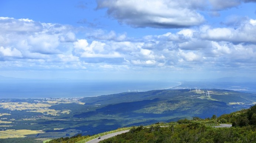
<path id="1" fill-rule="evenodd" d="M 255 143 L 256 105 L 216 118 L 181 119 L 168 124 L 138 126 L 129 132 L 102 140 L 100 143 Z M 218 128 L 219 123 L 232 123 L 231 128 Z M 75 137 L 76 138 L 76 137 Z M 78 139 L 61 138 L 49 143 L 75 143 Z M 72 140 L 75 140 L 73 142 Z M 80 141 L 81 142 L 81 141 Z"/>

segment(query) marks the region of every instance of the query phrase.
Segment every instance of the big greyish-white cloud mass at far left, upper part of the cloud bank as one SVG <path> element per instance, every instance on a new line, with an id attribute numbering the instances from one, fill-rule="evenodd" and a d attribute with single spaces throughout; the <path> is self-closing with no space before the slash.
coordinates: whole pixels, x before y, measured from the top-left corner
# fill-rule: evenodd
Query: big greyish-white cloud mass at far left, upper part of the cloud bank
<path id="1" fill-rule="evenodd" d="M 0 46 L 13 47 L 23 58 L 60 54 L 65 48 L 61 42 L 74 42 L 75 34 L 69 25 L 40 23 L 31 19 L 0 17 Z M 38 54 L 35 54 L 38 53 Z M 17 57 L 17 56 L 16 56 Z"/>

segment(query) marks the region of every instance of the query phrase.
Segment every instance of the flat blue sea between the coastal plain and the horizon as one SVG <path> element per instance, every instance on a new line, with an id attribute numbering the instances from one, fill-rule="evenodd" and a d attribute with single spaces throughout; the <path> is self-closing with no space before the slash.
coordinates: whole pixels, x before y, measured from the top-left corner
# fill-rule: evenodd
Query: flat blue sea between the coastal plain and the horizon
<path id="1" fill-rule="evenodd" d="M 180 85 L 168 81 L 1 81 L 0 99 L 73 98 L 144 92 Z"/>

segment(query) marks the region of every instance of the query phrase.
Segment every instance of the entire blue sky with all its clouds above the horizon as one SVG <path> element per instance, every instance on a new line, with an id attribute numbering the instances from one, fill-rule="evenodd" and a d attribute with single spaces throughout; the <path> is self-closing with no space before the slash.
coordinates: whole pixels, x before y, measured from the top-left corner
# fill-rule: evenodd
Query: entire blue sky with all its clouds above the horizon
<path id="1" fill-rule="evenodd" d="M 256 0 L 0 0 L 0 76 L 256 77 Z"/>

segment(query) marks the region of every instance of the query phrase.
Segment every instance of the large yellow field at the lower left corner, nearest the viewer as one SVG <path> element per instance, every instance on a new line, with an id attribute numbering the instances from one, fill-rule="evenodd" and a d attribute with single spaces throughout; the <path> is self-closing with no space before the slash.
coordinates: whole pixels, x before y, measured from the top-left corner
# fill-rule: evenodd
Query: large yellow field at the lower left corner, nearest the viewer
<path id="1" fill-rule="evenodd" d="M 26 137 L 26 135 L 43 133 L 42 131 L 34 130 L 6 130 L 0 131 L 0 139 L 14 138 L 14 137 Z"/>

